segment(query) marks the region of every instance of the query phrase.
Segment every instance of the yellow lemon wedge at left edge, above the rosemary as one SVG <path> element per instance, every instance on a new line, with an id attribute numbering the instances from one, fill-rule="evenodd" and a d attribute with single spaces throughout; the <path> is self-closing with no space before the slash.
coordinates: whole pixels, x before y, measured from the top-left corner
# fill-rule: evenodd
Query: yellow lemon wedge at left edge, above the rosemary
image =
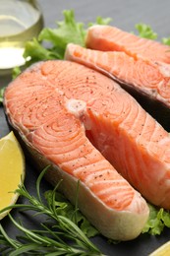
<path id="1" fill-rule="evenodd" d="M 0 139 L 0 211 L 15 204 L 15 193 L 25 178 L 25 157 L 13 132 Z M 9 210 L 10 211 L 10 210 Z M 0 213 L 2 220 L 9 211 Z"/>

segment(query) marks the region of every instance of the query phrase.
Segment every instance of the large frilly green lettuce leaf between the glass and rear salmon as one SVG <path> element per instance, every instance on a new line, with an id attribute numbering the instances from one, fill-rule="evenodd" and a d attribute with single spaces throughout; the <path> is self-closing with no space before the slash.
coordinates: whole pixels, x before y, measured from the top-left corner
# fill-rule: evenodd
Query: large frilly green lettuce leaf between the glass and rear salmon
<path id="1" fill-rule="evenodd" d="M 63 15 L 64 21 L 57 22 L 56 29 L 44 28 L 38 38 L 28 41 L 24 53 L 25 58 L 31 57 L 28 65 L 39 60 L 63 59 L 69 42 L 85 46 L 85 24 L 76 21 L 73 10 L 65 10 Z M 106 25 L 110 21 L 110 18 L 97 17 L 95 23 L 89 23 L 86 27 L 94 24 Z M 46 43 L 48 47 L 43 46 Z"/>

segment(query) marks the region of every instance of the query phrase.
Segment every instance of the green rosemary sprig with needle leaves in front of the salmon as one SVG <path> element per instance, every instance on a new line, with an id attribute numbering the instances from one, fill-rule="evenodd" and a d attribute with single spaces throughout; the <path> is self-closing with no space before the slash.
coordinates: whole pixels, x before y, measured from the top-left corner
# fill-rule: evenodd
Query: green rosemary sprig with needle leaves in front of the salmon
<path id="1" fill-rule="evenodd" d="M 72 209 L 71 204 L 66 201 L 58 201 L 57 197 L 63 196 L 57 192 L 58 186 L 51 191 L 45 193 L 45 197 L 41 197 L 40 183 L 47 168 L 45 168 L 36 180 L 36 196 L 28 193 L 25 185 L 22 184 L 17 189 L 17 193 L 27 199 L 27 204 L 15 204 L 0 211 L 6 211 L 12 208 L 18 208 L 22 213 L 33 211 L 35 217 L 43 216 L 44 223 L 39 224 L 39 229 L 29 229 L 21 222 L 17 222 L 11 214 L 8 214 L 10 221 L 20 229 L 21 235 L 15 239 L 11 238 L 0 224 L 0 254 L 17 256 L 17 255 L 103 255 L 100 250 L 88 239 L 85 232 L 80 228 L 80 223 L 85 221 L 85 217 L 80 218 L 81 213 L 76 209 Z M 79 185 L 79 183 L 78 183 Z M 78 200 L 79 186 L 76 200 Z M 69 212 L 67 211 L 69 210 Z M 69 216 L 69 213 L 72 214 Z M 82 220 L 80 222 L 80 220 Z M 93 234 L 97 231 L 85 223 L 88 228 L 92 229 Z M 90 226 L 90 227 L 89 227 Z"/>

